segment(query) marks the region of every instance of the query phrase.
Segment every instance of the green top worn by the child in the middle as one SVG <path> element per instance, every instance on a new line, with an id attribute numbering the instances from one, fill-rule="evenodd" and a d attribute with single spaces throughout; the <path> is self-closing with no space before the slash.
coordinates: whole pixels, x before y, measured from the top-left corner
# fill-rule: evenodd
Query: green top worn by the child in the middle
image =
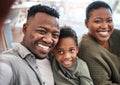
<path id="1" fill-rule="evenodd" d="M 93 85 L 86 63 L 78 57 L 70 68 L 64 68 L 53 58 L 52 68 L 56 85 Z"/>

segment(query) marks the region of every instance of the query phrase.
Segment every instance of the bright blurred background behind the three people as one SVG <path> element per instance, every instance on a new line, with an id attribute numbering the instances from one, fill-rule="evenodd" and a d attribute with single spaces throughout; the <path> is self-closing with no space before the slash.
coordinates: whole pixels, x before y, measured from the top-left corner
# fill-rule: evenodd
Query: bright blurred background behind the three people
<path id="1" fill-rule="evenodd" d="M 22 26 L 26 21 L 27 9 L 35 4 L 45 4 L 58 10 L 60 26 L 71 26 L 80 40 L 81 36 L 88 31 L 84 24 L 85 9 L 93 1 L 96 0 L 16 0 L 3 26 L 8 48 L 12 48 L 12 43 L 22 40 Z M 115 28 L 120 29 L 120 0 L 101 1 L 111 6 Z"/>

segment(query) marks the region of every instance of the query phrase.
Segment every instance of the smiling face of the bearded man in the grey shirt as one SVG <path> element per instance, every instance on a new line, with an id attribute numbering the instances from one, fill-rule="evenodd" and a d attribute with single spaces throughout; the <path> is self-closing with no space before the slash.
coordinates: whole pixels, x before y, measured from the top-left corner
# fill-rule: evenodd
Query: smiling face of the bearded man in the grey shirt
<path id="1" fill-rule="evenodd" d="M 23 27 L 23 45 L 40 58 L 46 57 L 59 38 L 59 26 L 55 17 L 37 13 Z"/>

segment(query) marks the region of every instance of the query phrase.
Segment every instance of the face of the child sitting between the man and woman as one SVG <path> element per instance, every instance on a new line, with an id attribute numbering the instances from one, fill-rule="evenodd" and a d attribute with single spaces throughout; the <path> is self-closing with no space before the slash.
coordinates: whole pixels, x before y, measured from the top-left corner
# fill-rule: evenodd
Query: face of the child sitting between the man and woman
<path id="1" fill-rule="evenodd" d="M 76 60 L 78 47 L 72 37 L 62 38 L 53 50 L 56 60 L 63 67 L 70 67 Z"/>

